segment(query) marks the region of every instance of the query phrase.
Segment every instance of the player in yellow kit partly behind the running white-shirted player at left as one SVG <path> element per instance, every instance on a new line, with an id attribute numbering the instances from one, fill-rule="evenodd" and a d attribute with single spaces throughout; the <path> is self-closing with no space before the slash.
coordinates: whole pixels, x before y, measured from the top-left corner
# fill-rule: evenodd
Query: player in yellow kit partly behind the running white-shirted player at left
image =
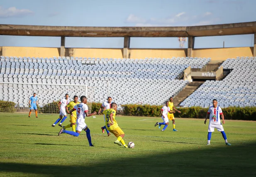
<path id="1" fill-rule="evenodd" d="M 78 102 L 78 96 L 75 95 L 73 99 L 74 101 L 69 102 L 69 104 L 66 106 L 67 113 L 69 113 L 68 108 L 69 110 L 72 110 L 77 104 L 80 104 Z M 76 132 L 76 111 L 73 111 L 71 115 L 69 115 L 69 118 L 70 124 L 63 126 L 63 129 L 66 130 L 66 128 L 72 127 L 72 131 Z"/>

